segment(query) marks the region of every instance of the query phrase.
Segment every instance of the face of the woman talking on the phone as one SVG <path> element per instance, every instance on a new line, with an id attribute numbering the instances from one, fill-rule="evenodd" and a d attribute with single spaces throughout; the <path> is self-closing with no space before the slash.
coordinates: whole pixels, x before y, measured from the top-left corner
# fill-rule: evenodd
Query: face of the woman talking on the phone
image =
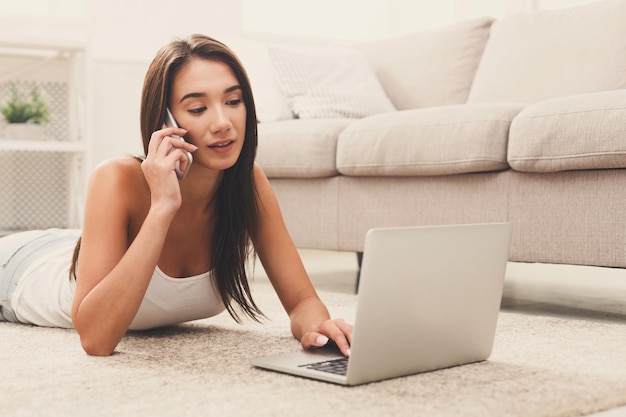
<path id="1" fill-rule="evenodd" d="M 246 106 L 232 69 L 221 61 L 192 58 L 173 82 L 170 109 L 187 129 L 185 139 L 198 147 L 193 164 L 218 171 L 232 167 L 246 132 Z"/>

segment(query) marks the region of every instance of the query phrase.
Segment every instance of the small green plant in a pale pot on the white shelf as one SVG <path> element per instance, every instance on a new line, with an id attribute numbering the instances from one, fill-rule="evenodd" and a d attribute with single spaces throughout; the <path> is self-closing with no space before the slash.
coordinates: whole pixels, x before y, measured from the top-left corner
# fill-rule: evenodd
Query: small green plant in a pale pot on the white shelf
<path id="1" fill-rule="evenodd" d="M 5 127 L 8 139 L 46 139 L 42 124 L 48 122 L 50 111 L 39 88 L 33 87 L 30 94 L 26 95 L 13 84 L 11 96 L 0 112 L 8 123 Z"/>

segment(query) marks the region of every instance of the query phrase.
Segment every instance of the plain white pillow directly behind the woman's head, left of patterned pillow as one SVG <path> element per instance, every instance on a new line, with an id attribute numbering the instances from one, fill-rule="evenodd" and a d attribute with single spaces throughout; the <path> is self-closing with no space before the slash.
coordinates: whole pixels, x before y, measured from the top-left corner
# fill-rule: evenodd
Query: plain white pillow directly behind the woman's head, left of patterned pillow
<path id="1" fill-rule="evenodd" d="M 235 52 L 248 73 L 257 120 L 266 123 L 293 119 L 291 108 L 278 85 L 267 45 L 242 38 L 220 40 Z"/>

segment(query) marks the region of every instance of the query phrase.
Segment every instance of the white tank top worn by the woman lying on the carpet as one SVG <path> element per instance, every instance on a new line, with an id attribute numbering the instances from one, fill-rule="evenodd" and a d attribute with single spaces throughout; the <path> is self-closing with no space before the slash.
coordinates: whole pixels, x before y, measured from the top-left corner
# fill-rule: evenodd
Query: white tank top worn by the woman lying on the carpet
<path id="1" fill-rule="evenodd" d="M 70 242 L 38 258 L 24 271 L 11 299 L 18 320 L 38 326 L 73 327 L 76 283 L 69 278 L 73 250 L 74 243 Z M 130 330 L 203 319 L 224 310 L 212 271 L 171 278 L 157 267 Z"/>

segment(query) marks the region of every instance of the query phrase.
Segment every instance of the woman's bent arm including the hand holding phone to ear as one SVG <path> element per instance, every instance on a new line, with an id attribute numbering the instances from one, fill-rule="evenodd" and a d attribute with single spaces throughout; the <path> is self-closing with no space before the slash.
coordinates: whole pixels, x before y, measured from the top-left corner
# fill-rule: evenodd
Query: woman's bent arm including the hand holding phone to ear
<path id="1" fill-rule="evenodd" d="M 180 207 L 175 162 L 162 164 L 165 150 L 156 157 L 170 130 L 153 138 L 141 170 L 134 159 L 118 159 L 100 165 L 90 178 L 72 305 L 72 321 L 88 354 L 110 355 L 128 330 Z M 133 220 L 141 224 L 136 236 Z"/>

